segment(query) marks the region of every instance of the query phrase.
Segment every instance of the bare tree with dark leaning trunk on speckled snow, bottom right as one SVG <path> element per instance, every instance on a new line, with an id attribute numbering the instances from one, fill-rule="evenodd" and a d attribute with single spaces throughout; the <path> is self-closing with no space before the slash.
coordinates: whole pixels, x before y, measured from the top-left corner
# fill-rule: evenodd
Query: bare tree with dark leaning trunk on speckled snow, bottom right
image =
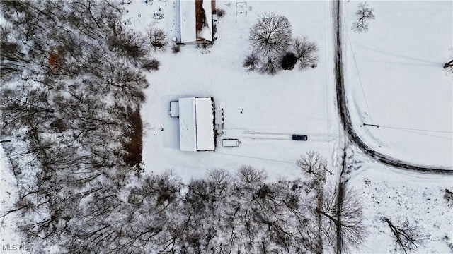
<path id="1" fill-rule="evenodd" d="M 397 248 L 401 248 L 406 254 L 408 251 L 417 249 L 418 246 L 425 241 L 424 236 L 420 232 L 420 228 L 414 224 L 410 224 L 407 218 L 403 221 L 398 220 L 396 224 L 393 224 L 390 219 L 386 217 L 382 217 L 381 220 L 389 225 Z"/>

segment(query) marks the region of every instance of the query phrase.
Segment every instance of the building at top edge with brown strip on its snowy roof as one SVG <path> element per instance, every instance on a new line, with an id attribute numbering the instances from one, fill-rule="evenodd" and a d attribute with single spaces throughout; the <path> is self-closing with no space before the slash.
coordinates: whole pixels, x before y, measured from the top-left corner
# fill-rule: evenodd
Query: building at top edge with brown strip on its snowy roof
<path id="1" fill-rule="evenodd" d="M 212 42 L 212 0 L 180 0 L 182 43 Z"/>

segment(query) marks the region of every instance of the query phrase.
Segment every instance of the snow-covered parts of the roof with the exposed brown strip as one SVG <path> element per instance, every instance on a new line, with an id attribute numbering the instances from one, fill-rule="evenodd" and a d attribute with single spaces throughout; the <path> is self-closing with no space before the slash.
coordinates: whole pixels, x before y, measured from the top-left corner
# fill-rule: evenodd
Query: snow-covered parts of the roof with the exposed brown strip
<path id="1" fill-rule="evenodd" d="M 202 0 L 205 10 L 205 25 L 197 31 L 195 0 L 180 0 L 181 42 L 207 40 L 212 42 L 212 0 Z"/>

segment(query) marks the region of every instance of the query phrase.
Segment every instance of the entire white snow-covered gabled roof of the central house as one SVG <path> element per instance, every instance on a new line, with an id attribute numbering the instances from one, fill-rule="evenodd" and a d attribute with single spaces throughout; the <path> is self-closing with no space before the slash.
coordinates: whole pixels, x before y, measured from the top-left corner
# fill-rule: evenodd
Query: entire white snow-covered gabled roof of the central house
<path id="1" fill-rule="evenodd" d="M 215 149 L 212 97 L 179 99 L 179 136 L 181 151 Z"/>

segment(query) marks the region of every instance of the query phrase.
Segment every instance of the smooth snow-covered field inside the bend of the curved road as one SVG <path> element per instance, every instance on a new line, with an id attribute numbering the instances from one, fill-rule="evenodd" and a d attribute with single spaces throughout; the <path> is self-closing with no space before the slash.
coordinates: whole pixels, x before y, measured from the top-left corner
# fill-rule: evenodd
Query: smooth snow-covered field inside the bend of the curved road
<path id="1" fill-rule="evenodd" d="M 357 133 L 398 159 L 452 167 L 453 78 L 442 65 L 453 47 L 453 2 L 369 1 L 376 19 L 365 33 L 350 30 L 358 3 L 344 3 L 345 84 Z"/>

